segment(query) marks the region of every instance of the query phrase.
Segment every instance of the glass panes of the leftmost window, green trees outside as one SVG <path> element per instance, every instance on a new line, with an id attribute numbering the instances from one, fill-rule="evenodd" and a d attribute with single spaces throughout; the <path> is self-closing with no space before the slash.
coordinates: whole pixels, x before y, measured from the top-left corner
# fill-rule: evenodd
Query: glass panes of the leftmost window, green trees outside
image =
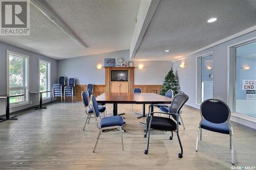
<path id="1" fill-rule="evenodd" d="M 11 106 L 28 103 L 29 56 L 7 51 L 7 93 L 25 94 L 10 98 Z"/>

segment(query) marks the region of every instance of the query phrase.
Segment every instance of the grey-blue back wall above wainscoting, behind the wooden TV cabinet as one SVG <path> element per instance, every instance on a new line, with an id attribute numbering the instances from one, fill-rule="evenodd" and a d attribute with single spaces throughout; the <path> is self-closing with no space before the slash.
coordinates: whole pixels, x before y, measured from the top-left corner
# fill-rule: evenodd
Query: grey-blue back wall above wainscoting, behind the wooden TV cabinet
<path id="1" fill-rule="evenodd" d="M 96 65 L 103 65 L 104 58 L 115 58 L 117 64 L 119 57 L 129 61 L 129 50 L 59 60 L 58 76 L 64 75 L 67 79 L 73 77 L 76 84 L 104 85 L 105 69 L 97 69 Z M 139 69 L 139 65 L 143 65 L 143 69 Z M 172 61 L 134 61 L 134 66 L 135 84 L 160 85 L 172 68 Z"/>

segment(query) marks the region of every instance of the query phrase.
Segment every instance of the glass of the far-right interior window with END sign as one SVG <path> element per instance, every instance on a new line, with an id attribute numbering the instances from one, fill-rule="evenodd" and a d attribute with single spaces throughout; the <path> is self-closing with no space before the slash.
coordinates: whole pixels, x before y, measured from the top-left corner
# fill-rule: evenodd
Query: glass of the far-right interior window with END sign
<path id="1" fill-rule="evenodd" d="M 237 113 L 256 117 L 256 42 L 237 46 L 234 106 Z"/>

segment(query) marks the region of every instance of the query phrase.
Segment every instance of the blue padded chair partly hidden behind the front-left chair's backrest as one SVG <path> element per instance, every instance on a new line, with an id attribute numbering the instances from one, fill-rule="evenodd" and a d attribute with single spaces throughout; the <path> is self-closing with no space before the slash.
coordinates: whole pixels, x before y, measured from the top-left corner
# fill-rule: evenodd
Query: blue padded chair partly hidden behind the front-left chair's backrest
<path id="1" fill-rule="evenodd" d="M 82 91 L 81 92 L 81 97 L 82 97 L 82 102 L 83 102 L 84 109 L 86 110 L 86 114 L 87 114 L 86 123 L 84 123 L 83 129 L 82 129 L 82 130 L 84 130 L 86 128 L 86 124 L 87 123 L 89 124 L 90 118 L 94 113 L 93 113 L 93 109 L 91 108 L 91 105 L 89 104 L 87 93 Z M 105 110 L 106 110 L 105 107 L 99 107 L 99 112 L 100 113 L 105 114 Z M 88 120 L 88 122 L 87 122 L 87 120 Z"/>

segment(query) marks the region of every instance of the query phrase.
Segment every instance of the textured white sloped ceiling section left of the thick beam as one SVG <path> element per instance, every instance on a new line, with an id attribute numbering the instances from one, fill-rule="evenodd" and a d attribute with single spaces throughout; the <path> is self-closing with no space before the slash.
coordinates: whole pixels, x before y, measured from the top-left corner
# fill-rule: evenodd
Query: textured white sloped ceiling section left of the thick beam
<path id="1" fill-rule="evenodd" d="M 87 49 L 75 43 L 32 4 L 30 36 L 0 36 L 0 41 L 55 59 L 130 48 L 139 0 L 47 0 L 46 2 L 89 46 Z"/>

